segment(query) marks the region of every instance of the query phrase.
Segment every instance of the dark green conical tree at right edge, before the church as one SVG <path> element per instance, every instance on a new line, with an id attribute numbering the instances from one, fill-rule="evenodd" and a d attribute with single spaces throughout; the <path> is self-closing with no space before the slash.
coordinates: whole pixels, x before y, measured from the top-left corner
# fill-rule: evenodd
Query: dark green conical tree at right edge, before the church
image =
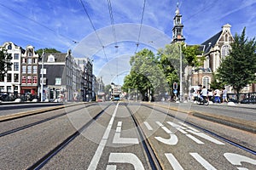
<path id="1" fill-rule="evenodd" d="M 256 80 L 256 41 L 255 37 L 248 39 L 245 31 L 244 27 L 241 35 L 236 33 L 230 54 L 222 60 L 217 73 L 220 82 L 236 91 L 237 99 L 241 89 Z"/>

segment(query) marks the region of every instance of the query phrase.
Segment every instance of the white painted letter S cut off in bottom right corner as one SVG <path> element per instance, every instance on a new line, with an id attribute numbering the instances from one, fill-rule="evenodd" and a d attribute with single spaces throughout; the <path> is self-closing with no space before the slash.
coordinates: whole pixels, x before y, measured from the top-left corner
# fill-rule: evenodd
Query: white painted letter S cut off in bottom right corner
<path id="1" fill-rule="evenodd" d="M 234 153 L 224 153 L 224 157 L 233 165 L 241 165 L 241 162 L 248 162 L 256 165 L 256 160 L 253 160 L 252 158 L 249 158 L 247 156 L 241 156 Z"/>

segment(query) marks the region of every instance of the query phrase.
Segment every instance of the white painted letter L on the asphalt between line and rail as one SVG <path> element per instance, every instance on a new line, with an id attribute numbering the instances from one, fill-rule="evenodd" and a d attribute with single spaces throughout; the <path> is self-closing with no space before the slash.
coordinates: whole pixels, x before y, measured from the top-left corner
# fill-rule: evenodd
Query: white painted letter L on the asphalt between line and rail
<path id="1" fill-rule="evenodd" d="M 113 136 L 113 144 L 139 144 L 137 138 L 121 138 L 122 122 L 118 122 Z"/>

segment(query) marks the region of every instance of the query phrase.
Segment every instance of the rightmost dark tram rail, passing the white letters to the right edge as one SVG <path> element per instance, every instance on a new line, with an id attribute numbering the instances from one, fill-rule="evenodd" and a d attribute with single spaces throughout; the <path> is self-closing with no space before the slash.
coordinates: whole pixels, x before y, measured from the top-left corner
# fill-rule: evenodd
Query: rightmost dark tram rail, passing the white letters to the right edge
<path id="1" fill-rule="evenodd" d="M 154 107 L 151 107 L 151 106 L 148 106 L 148 105 L 143 105 L 143 106 L 148 107 L 148 108 L 150 108 L 150 109 L 153 109 L 154 111 L 160 111 L 160 110 L 155 109 Z M 166 112 L 164 112 L 164 111 L 160 111 L 160 112 L 166 114 L 167 116 L 172 116 L 171 114 L 166 113 Z M 198 125 L 195 125 L 195 123 L 193 123 L 193 122 L 188 122 L 188 121 L 183 120 L 183 119 L 181 119 L 181 118 L 178 118 L 178 117 L 176 117 L 176 116 L 172 116 L 172 117 L 173 117 L 173 118 L 176 118 L 176 119 L 179 120 L 179 121 L 183 121 L 183 122 L 185 122 L 185 123 L 187 123 L 187 124 L 189 124 L 189 125 L 191 125 L 191 126 L 193 126 L 193 127 L 197 127 L 197 128 L 199 128 L 199 129 L 201 129 L 202 131 L 204 131 L 205 133 L 211 134 L 212 136 L 215 136 L 216 138 L 218 138 L 218 139 L 220 139 L 220 140 L 223 140 L 223 141 L 225 141 L 225 142 L 227 142 L 227 143 L 229 143 L 229 144 L 232 144 L 232 145 L 234 145 L 234 146 L 240 148 L 241 150 L 245 150 L 245 151 L 247 151 L 247 152 L 249 152 L 249 153 L 251 153 L 251 154 L 253 154 L 253 155 L 256 155 L 256 150 L 249 149 L 249 148 L 247 148 L 246 146 L 243 146 L 243 145 L 238 144 L 238 143 L 236 143 L 236 142 L 234 142 L 234 141 L 231 141 L 230 139 L 226 139 L 226 138 L 224 138 L 224 137 L 218 135 L 217 133 L 213 133 L 212 131 L 207 130 L 207 129 L 204 128 L 204 127 L 200 127 L 200 126 L 198 126 Z"/>

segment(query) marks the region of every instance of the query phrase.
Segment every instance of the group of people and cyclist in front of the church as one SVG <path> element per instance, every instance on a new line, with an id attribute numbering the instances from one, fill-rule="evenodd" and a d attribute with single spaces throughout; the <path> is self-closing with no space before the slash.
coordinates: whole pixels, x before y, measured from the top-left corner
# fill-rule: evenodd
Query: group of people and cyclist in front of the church
<path id="1" fill-rule="evenodd" d="M 213 103 L 228 102 L 228 91 L 225 88 L 222 89 L 207 89 L 205 86 L 199 86 L 198 89 L 191 88 L 189 92 L 190 101 L 195 101 L 197 98 L 209 99 Z"/>

